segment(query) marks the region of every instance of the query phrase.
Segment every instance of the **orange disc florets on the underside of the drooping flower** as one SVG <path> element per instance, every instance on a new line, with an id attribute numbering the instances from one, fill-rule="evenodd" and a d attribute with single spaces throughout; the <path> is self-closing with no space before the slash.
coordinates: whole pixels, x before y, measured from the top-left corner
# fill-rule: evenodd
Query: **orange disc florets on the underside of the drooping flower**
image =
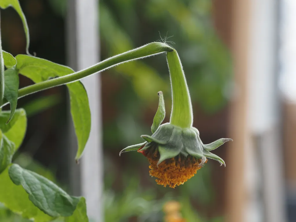
<path id="1" fill-rule="evenodd" d="M 176 157 L 164 160 L 157 165 L 159 160 L 159 152 L 157 149 L 149 149 L 147 152 L 147 158 L 150 162 L 149 171 L 151 176 L 155 176 L 158 179 L 155 180 L 157 184 L 167 185 L 171 188 L 175 188 L 181 184 L 184 184 L 188 179 L 196 174 L 197 170 L 202 168 L 202 160 L 193 156 L 179 154 Z M 207 163 L 207 160 L 206 162 Z"/>

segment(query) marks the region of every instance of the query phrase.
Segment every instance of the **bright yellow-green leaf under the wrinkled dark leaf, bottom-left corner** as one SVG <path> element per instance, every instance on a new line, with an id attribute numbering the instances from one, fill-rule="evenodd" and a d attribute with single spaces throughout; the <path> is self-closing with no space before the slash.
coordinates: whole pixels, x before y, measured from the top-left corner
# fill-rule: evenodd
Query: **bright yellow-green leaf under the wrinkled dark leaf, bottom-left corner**
<path id="1" fill-rule="evenodd" d="M 34 219 L 34 222 L 47 222 L 53 218 L 38 209 L 28 198 L 22 186 L 15 185 L 8 175 L 8 168 L 0 174 L 0 202 L 23 218 Z"/>

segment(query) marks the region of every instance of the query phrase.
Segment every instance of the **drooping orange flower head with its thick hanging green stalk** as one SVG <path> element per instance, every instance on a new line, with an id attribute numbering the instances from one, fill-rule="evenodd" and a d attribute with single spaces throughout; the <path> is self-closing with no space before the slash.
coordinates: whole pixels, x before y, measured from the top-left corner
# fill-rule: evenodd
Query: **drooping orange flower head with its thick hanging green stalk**
<path id="1" fill-rule="evenodd" d="M 156 177 L 157 184 L 175 188 L 184 184 L 207 163 L 207 158 L 224 164 L 217 155 L 211 153 L 232 139 L 218 139 L 203 144 L 200 133 L 192 126 L 192 104 L 181 61 L 176 50 L 167 52 L 172 87 L 172 111 L 170 123 L 164 123 L 165 107 L 162 92 L 158 92 L 159 105 L 151 127 L 152 136 L 142 135 L 145 142 L 126 147 L 123 152 L 137 150 L 150 163 L 150 175 Z"/>

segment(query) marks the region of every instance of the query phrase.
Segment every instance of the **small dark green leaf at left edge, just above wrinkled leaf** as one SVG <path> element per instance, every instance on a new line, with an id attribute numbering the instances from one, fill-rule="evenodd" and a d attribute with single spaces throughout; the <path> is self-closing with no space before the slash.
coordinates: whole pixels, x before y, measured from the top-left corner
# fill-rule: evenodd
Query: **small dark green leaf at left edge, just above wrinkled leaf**
<path id="1" fill-rule="evenodd" d="M 11 164 L 12 156 L 15 153 L 15 144 L 11 142 L 0 131 L 0 173 Z"/>

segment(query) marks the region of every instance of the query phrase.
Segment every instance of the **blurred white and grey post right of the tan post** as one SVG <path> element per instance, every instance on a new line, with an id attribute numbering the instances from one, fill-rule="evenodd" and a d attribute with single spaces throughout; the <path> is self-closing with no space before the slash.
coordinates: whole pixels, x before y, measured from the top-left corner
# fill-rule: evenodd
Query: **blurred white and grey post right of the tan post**
<path id="1" fill-rule="evenodd" d="M 255 168 L 251 193 L 256 221 L 286 221 L 277 88 L 277 0 L 252 0 L 249 122 Z M 262 202 L 263 200 L 263 202 Z M 260 206 L 260 207 L 259 207 Z M 258 208 L 262 211 L 258 211 Z M 254 219 L 250 221 L 255 221 Z"/>

